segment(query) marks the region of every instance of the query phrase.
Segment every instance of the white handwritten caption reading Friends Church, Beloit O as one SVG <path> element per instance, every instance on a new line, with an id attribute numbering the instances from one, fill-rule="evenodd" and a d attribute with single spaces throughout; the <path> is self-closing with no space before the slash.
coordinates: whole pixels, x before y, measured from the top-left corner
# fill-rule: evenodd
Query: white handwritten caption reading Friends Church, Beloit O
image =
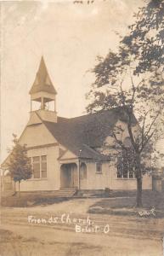
<path id="1" fill-rule="evenodd" d="M 59 217 L 50 216 L 49 218 L 36 218 L 33 215 L 27 217 L 29 224 L 70 224 L 75 228 L 76 233 L 104 233 L 110 232 L 109 224 L 95 224 L 89 218 L 73 218 L 70 214 L 63 213 Z"/>

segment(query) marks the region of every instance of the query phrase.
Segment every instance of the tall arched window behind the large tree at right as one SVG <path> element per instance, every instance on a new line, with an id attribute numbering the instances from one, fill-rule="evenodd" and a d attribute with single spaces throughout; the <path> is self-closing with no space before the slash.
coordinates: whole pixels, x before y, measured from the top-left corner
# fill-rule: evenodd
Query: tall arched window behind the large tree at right
<path id="1" fill-rule="evenodd" d="M 122 150 L 122 153 L 117 159 L 117 177 L 119 178 L 133 178 L 133 152 L 131 150 Z"/>

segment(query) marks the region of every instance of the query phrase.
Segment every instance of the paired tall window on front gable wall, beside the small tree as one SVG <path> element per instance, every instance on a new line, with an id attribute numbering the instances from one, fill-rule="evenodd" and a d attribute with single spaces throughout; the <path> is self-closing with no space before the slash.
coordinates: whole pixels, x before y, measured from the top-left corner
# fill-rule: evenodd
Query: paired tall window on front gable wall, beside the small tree
<path id="1" fill-rule="evenodd" d="M 33 169 L 34 178 L 47 177 L 47 156 L 34 156 L 29 158 L 31 160 L 31 166 Z"/>

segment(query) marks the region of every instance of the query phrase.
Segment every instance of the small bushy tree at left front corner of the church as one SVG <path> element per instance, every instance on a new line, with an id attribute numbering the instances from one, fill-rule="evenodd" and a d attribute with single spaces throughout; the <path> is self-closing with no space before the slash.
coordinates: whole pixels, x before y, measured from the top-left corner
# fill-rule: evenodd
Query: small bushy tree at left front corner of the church
<path id="1" fill-rule="evenodd" d="M 19 183 L 19 195 L 20 195 L 20 182 L 31 178 L 32 168 L 29 158 L 27 157 L 26 145 L 20 145 L 16 135 L 13 134 L 14 147 L 11 150 L 8 171 L 11 174 L 14 182 Z"/>

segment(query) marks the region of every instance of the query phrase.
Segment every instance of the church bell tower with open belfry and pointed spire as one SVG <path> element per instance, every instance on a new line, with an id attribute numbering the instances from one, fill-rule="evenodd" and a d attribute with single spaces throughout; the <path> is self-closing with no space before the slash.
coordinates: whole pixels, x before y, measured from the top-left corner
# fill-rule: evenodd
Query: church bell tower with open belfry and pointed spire
<path id="1" fill-rule="evenodd" d="M 37 112 L 42 120 L 57 122 L 56 95 L 54 85 L 48 75 L 48 70 L 42 57 L 36 78 L 29 92 L 31 95 L 31 114 Z M 37 102 L 37 109 L 34 103 Z M 51 104 L 51 108 L 50 108 Z"/>

